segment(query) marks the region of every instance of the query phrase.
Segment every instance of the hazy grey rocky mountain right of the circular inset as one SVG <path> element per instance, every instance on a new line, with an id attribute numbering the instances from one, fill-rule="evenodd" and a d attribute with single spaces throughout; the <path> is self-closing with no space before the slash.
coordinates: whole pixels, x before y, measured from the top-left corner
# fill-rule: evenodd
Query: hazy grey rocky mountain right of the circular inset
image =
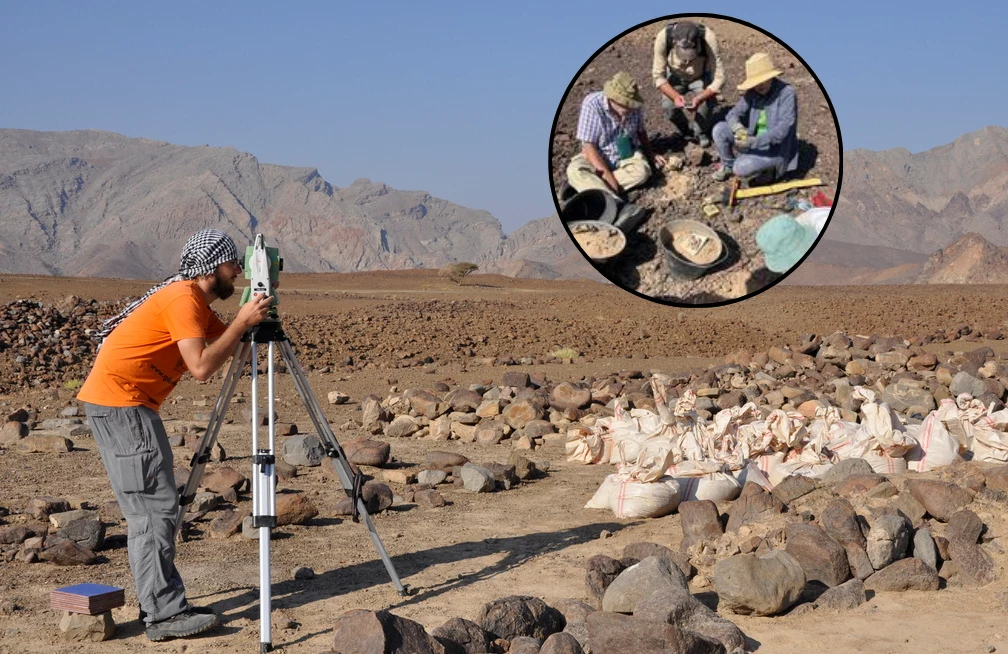
<path id="1" fill-rule="evenodd" d="M 985 127 L 916 154 L 844 153 L 830 239 L 930 254 L 971 232 L 1008 245 L 1008 129 Z"/>

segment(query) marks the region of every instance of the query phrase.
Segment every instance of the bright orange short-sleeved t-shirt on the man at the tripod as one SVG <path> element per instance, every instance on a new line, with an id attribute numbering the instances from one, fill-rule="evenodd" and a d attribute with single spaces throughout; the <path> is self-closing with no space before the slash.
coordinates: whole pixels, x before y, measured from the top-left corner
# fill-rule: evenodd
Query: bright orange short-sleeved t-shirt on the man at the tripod
<path id="1" fill-rule="evenodd" d="M 77 398 L 155 411 L 188 368 L 183 339 L 215 339 L 227 329 L 195 281 L 176 281 L 147 298 L 105 339 Z"/>

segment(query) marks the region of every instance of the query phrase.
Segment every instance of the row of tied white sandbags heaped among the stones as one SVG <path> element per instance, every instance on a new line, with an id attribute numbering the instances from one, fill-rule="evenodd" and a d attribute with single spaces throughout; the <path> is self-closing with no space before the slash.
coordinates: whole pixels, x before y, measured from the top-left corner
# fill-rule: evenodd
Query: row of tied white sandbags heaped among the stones
<path id="1" fill-rule="evenodd" d="M 670 407 L 667 387 L 663 375 L 652 377 L 656 412 L 617 403 L 613 417 L 568 441 L 571 461 L 619 467 L 588 508 L 655 517 L 680 501 L 733 500 L 746 481 L 770 489 L 789 475 L 820 478 L 854 457 L 882 474 L 927 472 L 959 457 L 1008 462 L 1008 409 L 994 411 L 967 394 L 908 425 L 863 387 L 854 391 L 862 400 L 858 422 L 842 420 L 836 407 L 821 407 L 810 421 L 781 409 L 764 416 L 751 402 L 705 420 L 691 390 Z"/>

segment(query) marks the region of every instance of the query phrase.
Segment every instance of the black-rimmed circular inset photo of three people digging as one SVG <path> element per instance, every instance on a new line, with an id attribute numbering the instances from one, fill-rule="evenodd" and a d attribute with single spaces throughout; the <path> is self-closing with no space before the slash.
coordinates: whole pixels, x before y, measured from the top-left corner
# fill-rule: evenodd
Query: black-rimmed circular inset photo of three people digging
<path id="1" fill-rule="evenodd" d="M 843 176 L 833 103 L 800 55 L 728 16 L 656 18 L 603 45 L 553 119 L 556 211 L 614 283 L 738 301 L 818 242 Z"/>

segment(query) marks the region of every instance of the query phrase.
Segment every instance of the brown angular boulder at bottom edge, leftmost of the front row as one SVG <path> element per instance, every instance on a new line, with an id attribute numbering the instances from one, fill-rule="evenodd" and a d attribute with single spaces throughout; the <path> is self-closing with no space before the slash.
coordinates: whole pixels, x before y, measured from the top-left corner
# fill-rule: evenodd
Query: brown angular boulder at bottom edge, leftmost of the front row
<path id="1" fill-rule="evenodd" d="M 346 654 L 445 654 L 423 626 L 387 611 L 348 611 L 333 627 L 333 651 Z"/>

